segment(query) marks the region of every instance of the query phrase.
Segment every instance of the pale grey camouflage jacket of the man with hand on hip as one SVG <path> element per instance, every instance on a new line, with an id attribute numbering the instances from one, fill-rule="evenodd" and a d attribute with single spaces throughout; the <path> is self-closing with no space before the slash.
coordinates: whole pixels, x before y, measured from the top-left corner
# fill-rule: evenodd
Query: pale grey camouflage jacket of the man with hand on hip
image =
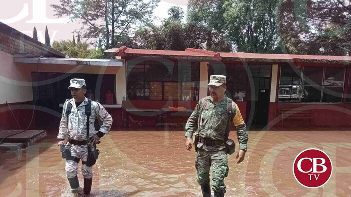
<path id="1" fill-rule="evenodd" d="M 67 103 L 72 104 L 71 113 L 66 116 Z M 57 135 L 58 139 L 65 139 L 66 136 L 73 140 L 83 141 L 87 137 L 87 116 L 85 113 L 85 105 L 88 104 L 88 99 L 85 98 L 84 101 L 76 107 L 74 99 L 66 100 L 62 109 L 62 118 L 60 122 L 59 134 Z M 95 119 L 99 118 L 103 124 L 100 128 L 100 132 L 108 134 L 112 125 L 112 117 L 106 111 L 106 109 L 98 102 L 91 102 L 91 115 L 90 115 L 90 125 L 89 125 L 89 137 L 92 137 L 95 134 L 94 122 Z"/>

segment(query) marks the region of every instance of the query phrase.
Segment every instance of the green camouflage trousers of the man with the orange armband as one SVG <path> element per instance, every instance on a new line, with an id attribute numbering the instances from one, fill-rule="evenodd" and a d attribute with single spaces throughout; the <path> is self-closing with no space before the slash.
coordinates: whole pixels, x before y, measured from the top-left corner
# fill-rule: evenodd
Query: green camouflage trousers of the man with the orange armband
<path id="1" fill-rule="evenodd" d="M 210 167 L 212 167 L 212 190 L 218 193 L 226 192 L 224 178 L 228 176 L 227 151 L 205 151 L 198 149 L 195 168 L 198 172 L 196 180 L 199 184 L 210 182 Z"/>

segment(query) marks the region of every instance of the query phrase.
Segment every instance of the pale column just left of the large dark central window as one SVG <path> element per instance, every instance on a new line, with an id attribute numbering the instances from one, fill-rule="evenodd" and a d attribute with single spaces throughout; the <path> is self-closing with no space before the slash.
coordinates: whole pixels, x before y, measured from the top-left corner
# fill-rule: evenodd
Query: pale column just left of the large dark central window
<path id="1" fill-rule="evenodd" d="M 122 104 L 123 97 L 126 98 L 126 61 L 123 61 L 123 67 L 119 67 L 116 74 L 116 100 L 117 104 Z"/>

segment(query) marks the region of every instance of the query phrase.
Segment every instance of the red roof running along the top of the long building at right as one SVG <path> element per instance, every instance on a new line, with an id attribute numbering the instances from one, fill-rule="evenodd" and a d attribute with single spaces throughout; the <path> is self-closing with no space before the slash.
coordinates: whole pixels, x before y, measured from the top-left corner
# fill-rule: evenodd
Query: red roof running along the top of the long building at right
<path id="1" fill-rule="evenodd" d="M 351 57 L 347 56 L 318 56 L 318 55 L 294 55 L 294 54 L 259 54 L 259 53 L 230 53 L 230 52 L 213 52 L 194 48 L 187 48 L 185 51 L 174 50 L 144 50 L 132 49 L 122 46 L 105 51 L 106 53 L 115 53 L 115 55 L 126 56 L 177 56 L 177 57 L 203 57 L 208 60 L 231 60 L 231 61 L 253 61 L 253 62 L 314 62 L 314 63 L 340 63 L 350 64 Z"/>

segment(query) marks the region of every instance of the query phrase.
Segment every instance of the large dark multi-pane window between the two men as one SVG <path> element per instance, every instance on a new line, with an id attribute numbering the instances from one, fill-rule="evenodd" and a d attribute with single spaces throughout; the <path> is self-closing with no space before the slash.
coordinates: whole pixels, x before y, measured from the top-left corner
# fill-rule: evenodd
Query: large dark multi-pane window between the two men
<path id="1" fill-rule="evenodd" d="M 199 99 L 200 62 L 145 61 L 137 66 L 142 69 L 127 63 L 129 100 Z"/>

